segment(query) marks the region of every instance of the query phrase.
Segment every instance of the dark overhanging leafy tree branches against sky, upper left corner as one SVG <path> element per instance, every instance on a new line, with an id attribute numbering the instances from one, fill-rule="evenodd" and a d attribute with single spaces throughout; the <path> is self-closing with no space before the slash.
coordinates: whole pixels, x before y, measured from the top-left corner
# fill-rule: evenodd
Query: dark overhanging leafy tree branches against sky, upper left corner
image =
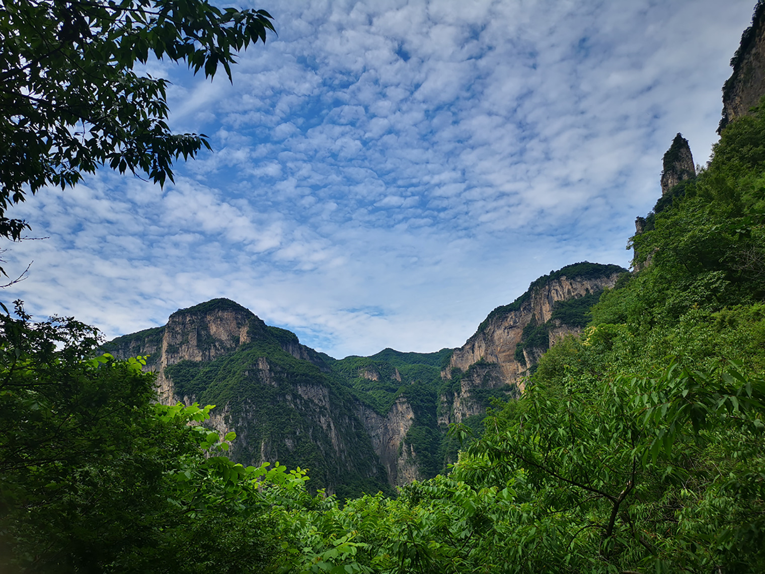
<path id="1" fill-rule="evenodd" d="M 207 0 L 4 0 L 0 4 L 0 236 L 28 223 L 11 204 L 44 185 L 76 184 L 101 165 L 173 181 L 172 163 L 207 136 L 173 134 L 168 81 L 135 71 L 150 57 L 231 80 L 235 52 L 265 43 L 265 10 Z"/>

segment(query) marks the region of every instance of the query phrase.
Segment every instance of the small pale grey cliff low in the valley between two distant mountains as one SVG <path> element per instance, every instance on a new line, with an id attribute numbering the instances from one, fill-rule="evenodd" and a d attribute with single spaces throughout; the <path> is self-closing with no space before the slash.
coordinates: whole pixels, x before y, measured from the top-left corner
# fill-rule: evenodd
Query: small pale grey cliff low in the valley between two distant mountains
<path id="1" fill-rule="evenodd" d="M 369 439 L 372 440 L 372 446 L 382 467 L 386 470 L 389 484 L 401 486 L 422 478 L 415 463 L 416 452 L 403 444 L 406 433 L 415 420 L 412 406 L 409 406 L 405 399 L 399 397 L 386 416 L 380 416 L 362 403 L 357 404 L 356 413 L 369 434 Z"/>

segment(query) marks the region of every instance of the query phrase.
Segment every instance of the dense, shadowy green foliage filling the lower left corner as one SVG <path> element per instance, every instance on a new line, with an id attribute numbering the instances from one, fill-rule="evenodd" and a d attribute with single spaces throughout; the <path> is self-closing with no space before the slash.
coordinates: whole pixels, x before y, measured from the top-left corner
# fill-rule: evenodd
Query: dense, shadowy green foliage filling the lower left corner
<path id="1" fill-rule="evenodd" d="M 0 570 L 268 571 L 266 517 L 300 471 L 235 465 L 200 423 L 163 406 L 142 357 L 98 354 L 73 319 L 0 315 Z"/>

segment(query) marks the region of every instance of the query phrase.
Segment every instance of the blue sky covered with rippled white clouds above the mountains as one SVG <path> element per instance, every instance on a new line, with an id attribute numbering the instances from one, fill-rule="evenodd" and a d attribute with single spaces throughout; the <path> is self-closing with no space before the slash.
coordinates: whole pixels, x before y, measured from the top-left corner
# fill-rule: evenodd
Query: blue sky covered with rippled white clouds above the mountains
<path id="1" fill-rule="evenodd" d="M 682 132 L 704 165 L 754 0 L 290 0 L 233 83 L 152 62 L 213 152 L 8 211 L 2 292 L 107 338 L 226 297 L 333 357 L 458 347 L 569 263 L 629 266 Z M 229 5 L 231 5 L 229 3 Z"/>

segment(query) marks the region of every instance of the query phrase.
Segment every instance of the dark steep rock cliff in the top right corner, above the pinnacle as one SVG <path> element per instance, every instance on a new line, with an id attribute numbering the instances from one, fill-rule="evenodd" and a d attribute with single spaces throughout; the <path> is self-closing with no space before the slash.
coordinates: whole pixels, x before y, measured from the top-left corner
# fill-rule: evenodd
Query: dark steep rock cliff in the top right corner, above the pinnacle
<path id="1" fill-rule="evenodd" d="M 757 2 L 752 25 L 741 34 L 731 59 L 733 73 L 722 89 L 722 119 L 718 133 L 734 119 L 745 116 L 765 94 L 765 2 Z"/>

